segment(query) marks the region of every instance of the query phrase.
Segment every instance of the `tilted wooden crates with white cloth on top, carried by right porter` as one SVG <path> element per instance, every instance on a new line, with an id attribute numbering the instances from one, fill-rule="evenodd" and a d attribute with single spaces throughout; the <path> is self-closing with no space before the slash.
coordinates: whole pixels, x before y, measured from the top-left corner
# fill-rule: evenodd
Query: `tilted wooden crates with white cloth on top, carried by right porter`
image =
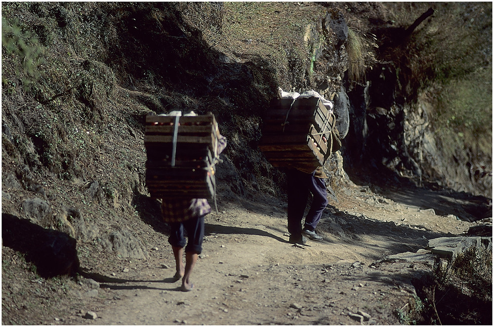
<path id="1" fill-rule="evenodd" d="M 322 137 L 330 139 L 332 124 L 317 97 L 273 100 L 264 116 L 259 149 L 275 167 L 312 171 L 331 154 Z"/>

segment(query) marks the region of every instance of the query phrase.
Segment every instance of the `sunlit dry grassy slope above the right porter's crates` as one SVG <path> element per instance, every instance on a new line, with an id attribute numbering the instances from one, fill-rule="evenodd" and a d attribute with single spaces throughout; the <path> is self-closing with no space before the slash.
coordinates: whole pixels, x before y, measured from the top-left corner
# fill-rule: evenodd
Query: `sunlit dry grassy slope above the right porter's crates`
<path id="1" fill-rule="evenodd" d="M 273 84 L 290 90 L 306 89 L 307 80 L 316 71 L 315 53 L 321 41 L 315 33 L 317 19 L 325 10 L 307 4 L 294 15 L 300 6 L 294 2 L 225 2 L 221 33 L 205 30 L 205 40 L 242 62 L 262 58 L 267 63 L 260 68 L 273 71 Z"/>

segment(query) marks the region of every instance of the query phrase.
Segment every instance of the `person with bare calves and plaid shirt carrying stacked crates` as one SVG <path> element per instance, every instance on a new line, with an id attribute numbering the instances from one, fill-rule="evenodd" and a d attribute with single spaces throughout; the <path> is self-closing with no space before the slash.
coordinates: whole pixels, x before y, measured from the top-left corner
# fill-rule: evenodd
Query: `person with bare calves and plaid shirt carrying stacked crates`
<path id="1" fill-rule="evenodd" d="M 171 114 L 171 113 L 170 113 Z M 177 114 L 177 115 L 181 115 Z M 193 112 L 185 116 L 196 116 Z M 226 147 L 226 138 L 219 135 L 216 155 Z M 182 279 L 180 290 L 190 291 L 194 287 L 191 274 L 202 251 L 204 238 L 204 216 L 211 212 L 211 206 L 206 199 L 163 199 L 163 220 L 170 226 L 168 243 L 175 257 L 176 273 L 173 282 Z M 185 240 L 185 232 L 189 240 Z M 185 266 L 182 261 L 185 250 Z"/>

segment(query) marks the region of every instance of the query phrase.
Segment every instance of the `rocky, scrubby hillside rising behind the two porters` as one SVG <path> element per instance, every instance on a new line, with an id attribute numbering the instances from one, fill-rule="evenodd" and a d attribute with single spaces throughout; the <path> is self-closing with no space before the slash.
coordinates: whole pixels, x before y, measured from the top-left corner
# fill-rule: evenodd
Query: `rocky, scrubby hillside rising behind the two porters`
<path id="1" fill-rule="evenodd" d="M 479 41 L 492 34 L 492 7 L 437 4 L 417 21 L 427 9 L 378 2 L 3 2 L 3 246 L 34 262 L 41 277 L 75 274 L 100 253 L 110 261 L 145 258 L 146 236 L 132 231 L 160 221 L 160 209 L 145 186 L 144 119 L 177 109 L 212 112 L 228 139 L 217 175 L 220 201 L 284 200 L 283 172 L 257 148 L 278 87 L 314 89 L 334 102 L 345 137 L 325 166 L 333 189 L 385 178 L 463 192 L 461 199 L 478 205 L 458 217 L 491 217 L 492 130 L 482 125 L 492 125 L 492 105 L 469 102 L 476 108 L 470 116 L 446 109 L 465 99 L 451 91 L 468 89 L 457 85 L 492 72 L 492 40 Z M 452 44 L 451 35 L 438 32 L 444 24 L 469 43 Z M 468 65 L 457 62 L 465 53 Z M 445 57 L 454 59 L 450 66 Z M 442 64 L 434 70 L 436 62 Z M 481 88 L 492 90 L 491 80 L 481 80 Z M 46 248 L 25 257 L 33 244 L 22 242 L 23 230 L 67 253 L 64 265 L 43 267 Z M 77 253 L 64 252 L 74 240 Z"/>

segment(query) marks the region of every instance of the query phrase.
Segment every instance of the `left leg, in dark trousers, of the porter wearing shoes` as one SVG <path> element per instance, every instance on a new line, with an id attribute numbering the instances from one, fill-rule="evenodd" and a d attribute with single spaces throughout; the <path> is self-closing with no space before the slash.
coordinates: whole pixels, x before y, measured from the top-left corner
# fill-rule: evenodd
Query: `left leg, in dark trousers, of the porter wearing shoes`
<path id="1" fill-rule="evenodd" d="M 291 239 L 302 236 L 302 218 L 309 197 L 307 178 L 309 174 L 296 169 L 287 171 L 287 194 L 288 194 L 288 233 Z"/>

